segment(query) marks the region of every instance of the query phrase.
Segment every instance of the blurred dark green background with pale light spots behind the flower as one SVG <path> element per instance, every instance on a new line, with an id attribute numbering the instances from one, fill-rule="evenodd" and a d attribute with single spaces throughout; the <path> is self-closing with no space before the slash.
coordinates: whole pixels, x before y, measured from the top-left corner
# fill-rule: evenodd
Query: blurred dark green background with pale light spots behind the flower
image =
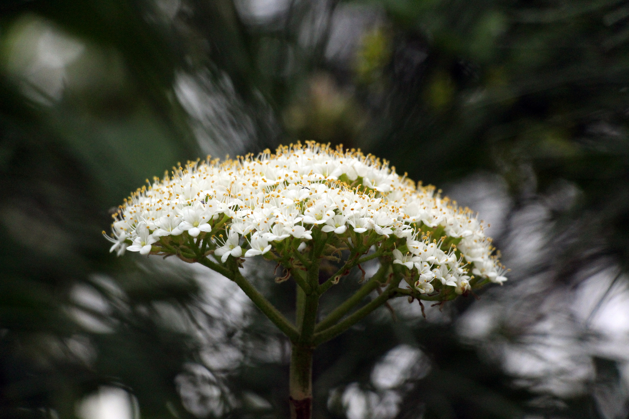
<path id="1" fill-rule="evenodd" d="M 625 418 L 628 122 L 626 1 L 3 0 L 0 417 L 286 418 L 247 297 L 101 231 L 177 161 L 312 139 L 478 210 L 511 268 L 321 346 L 316 418 Z"/>

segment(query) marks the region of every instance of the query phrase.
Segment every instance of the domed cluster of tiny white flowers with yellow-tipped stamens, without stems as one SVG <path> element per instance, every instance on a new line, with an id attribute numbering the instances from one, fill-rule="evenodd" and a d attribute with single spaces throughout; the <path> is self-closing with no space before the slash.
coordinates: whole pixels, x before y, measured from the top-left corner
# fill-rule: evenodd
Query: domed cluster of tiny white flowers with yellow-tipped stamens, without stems
<path id="1" fill-rule="evenodd" d="M 318 239 L 337 254 L 369 244 L 408 269 L 409 284 L 422 294 L 506 280 L 469 209 L 373 156 L 311 142 L 188 163 L 138 189 L 114 217 L 108 239 L 118 254 L 169 254 L 177 244 L 203 242 L 206 254 L 226 263 L 287 248 L 305 253 Z"/>

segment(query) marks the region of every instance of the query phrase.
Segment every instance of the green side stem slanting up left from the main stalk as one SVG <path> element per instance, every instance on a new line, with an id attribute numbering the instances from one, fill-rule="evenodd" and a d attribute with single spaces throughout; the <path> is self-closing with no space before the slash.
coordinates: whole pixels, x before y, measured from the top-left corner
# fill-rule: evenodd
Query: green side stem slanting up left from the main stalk
<path id="1" fill-rule="evenodd" d="M 242 276 L 235 261 L 233 262 L 233 271 L 221 266 L 218 263 L 214 263 L 208 258 L 199 259 L 199 263 L 204 264 L 208 268 L 213 269 L 237 283 L 238 286 L 240 286 L 240 289 L 247 294 L 247 297 L 249 297 L 267 317 L 269 317 L 269 320 L 273 322 L 279 330 L 284 332 L 291 342 L 297 342 L 299 340 L 299 332 L 297 329 L 295 329 L 295 327 L 286 320 L 286 317 L 284 317 L 284 315 L 282 315 L 282 313 L 280 313 L 279 310 L 277 310 L 277 308 L 269 302 L 269 300 L 264 298 L 264 295 L 260 294 L 260 292 Z"/>

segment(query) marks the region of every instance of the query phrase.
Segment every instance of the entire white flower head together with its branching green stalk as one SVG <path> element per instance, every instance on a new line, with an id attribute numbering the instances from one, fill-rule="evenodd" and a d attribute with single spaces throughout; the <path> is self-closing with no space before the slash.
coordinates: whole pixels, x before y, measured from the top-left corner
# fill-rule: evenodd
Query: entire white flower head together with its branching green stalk
<path id="1" fill-rule="evenodd" d="M 389 299 L 445 302 L 503 283 L 482 223 L 467 208 L 415 185 L 371 155 L 308 142 L 237 160 L 189 162 L 139 188 L 114 215 L 111 251 L 176 255 L 242 288 L 291 340 L 293 418 L 311 416 L 312 354 Z M 276 262 L 296 283 L 296 324 L 240 272 L 248 258 Z M 322 259 L 340 263 L 320 281 Z M 360 264 L 380 268 L 325 318 L 323 293 Z M 356 309 L 372 291 L 378 297 Z"/>

